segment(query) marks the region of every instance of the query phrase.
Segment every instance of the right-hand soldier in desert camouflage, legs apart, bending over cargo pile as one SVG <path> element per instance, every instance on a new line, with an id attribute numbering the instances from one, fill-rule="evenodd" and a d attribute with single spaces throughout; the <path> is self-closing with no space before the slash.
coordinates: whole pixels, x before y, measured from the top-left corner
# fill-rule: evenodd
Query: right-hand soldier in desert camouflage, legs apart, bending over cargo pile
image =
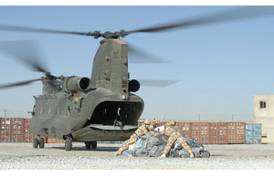
<path id="1" fill-rule="evenodd" d="M 184 150 L 190 154 L 191 158 L 194 158 L 194 154 L 191 150 L 191 148 L 188 146 L 188 144 L 185 142 L 184 137 L 181 135 L 179 131 L 174 130 L 170 123 L 164 124 L 164 130 L 154 134 L 154 137 L 165 134 L 169 137 L 166 146 L 163 150 L 163 154 L 160 157 L 166 157 L 166 154 L 170 151 L 172 145 L 174 144 L 174 141 L 179 141 L 182 146 L 184 147 Z"/>

